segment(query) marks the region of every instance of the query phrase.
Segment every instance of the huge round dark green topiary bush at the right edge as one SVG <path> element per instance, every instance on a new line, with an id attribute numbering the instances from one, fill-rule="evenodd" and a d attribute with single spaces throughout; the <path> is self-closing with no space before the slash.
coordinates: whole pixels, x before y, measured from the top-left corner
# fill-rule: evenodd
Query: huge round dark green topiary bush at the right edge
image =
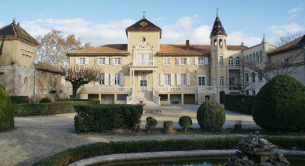
<path id="1" fill-rule="evenodd" d="M 305 87 L 288 75 L 273 77 L 258 92 L 252 116 L 267 131 L 304 131 Z"/>

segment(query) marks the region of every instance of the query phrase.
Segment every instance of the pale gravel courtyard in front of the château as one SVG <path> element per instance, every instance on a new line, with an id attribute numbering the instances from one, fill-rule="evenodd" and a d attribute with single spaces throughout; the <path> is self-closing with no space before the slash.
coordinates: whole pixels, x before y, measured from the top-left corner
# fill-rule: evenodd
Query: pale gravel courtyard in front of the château
<path id="1" fill-rule="evenodd" d="M 162 113 L 144 113 L 142 119 L 145 121 L 147 116 L 153 116 L 158 120 L 159 127 L 162 126 L 163 120 L 173 120 L 175 127 L 178 127 L 177 121 L 179 117 L 188 115 L 193 119 L 194 125 L 192 127 L 198 128 L 199 126 L 196 121 L 197 108 L 198 105 L 162 106 L 159 108 L 159 110 L 162 110 Z M 26 163 L 33 163 L 67 148 L 101 141 L 196 139 L 226 136 L 225 134 L 76 134 L 73 124 L 74 115 L 74 113 L 70 113 L 54 116 L 16 117 L 16 129 L 0 133 L 0 165 L 24 165 Z M 248 115 L 227 111 L 226 118 L 227 120 L 224 128 L 228 125 L 231 126 L 234 124 L 235 120 L 239 119 L 243 120 L 243 123 L 246 126 L 256 127 L 252 117 Z M 144 124 L 141 125 L 141 127 L 144 126 Z"/>

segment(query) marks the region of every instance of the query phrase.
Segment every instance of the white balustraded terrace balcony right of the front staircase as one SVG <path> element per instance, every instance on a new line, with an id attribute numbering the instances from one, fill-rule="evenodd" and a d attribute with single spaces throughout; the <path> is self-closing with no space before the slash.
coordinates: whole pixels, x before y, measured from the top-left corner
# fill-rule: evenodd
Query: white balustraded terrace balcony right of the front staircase
<path id="1" fill-rule="evenodd" d="M 198 93 L 198 94 L 216 94 L 216 88 L 213 86 L 200 86 L 200 87 L 173 87 L 163 86 L 156 87 L 156 93 Z"/>

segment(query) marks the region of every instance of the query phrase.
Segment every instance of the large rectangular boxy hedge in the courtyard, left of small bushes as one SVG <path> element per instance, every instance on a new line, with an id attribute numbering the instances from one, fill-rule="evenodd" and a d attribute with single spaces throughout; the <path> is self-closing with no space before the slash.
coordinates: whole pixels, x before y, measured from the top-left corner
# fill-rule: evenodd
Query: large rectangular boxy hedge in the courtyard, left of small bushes
<path id="1" fill-rule="evenodd" d="M 76 132 L 108 132 L 114 129 L 135 131 L 140 127 L 143 106 L 83 105 L 75 106 Z"/>

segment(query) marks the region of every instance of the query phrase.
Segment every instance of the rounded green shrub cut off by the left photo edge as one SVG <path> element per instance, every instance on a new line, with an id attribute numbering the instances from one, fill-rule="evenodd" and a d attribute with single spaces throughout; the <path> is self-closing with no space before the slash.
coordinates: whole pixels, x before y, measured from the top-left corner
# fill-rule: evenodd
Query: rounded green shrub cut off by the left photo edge
<path id="1" fill-rule="evenodd" d="M 0 132 L 14 128 L 14 111 L 11 98 L 0 84 Z"/>

